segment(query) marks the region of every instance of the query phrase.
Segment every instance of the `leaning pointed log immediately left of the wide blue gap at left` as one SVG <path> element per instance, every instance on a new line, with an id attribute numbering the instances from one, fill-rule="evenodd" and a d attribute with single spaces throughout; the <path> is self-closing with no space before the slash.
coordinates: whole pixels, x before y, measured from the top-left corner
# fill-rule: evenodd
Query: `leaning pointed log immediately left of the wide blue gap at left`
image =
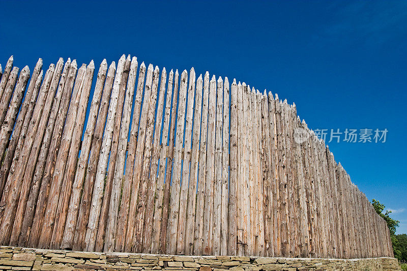
<path id="1" fill-rule="evenodd" d="M 50 247 L 60 248 L 62 238 L 64 236 L 65 222 L 68 214 L 69 201 L 71 198 L 72 185 L 75 178 L 76 165 L 79 156 L 79 147 L 81 144 L 83 126 L 85 122 L 86 109 L 88 107 L 89 96 L 92 87 L 93 75 L 95 72 L 95 65 L 93 60 L 86 67 L 84 78 L 80 86 L 80 98 L 77 107 L 77 114 L 75 120 L 75 128 L 72 134 L 71 145 L 69 147 L 69 155 L 64 173 L 64 180 L 62 183 L 62 193 L 59 195 L 60 199 L 56 208 L 56 213 L 59 214 L 55 218 L 53 227 Z"/>

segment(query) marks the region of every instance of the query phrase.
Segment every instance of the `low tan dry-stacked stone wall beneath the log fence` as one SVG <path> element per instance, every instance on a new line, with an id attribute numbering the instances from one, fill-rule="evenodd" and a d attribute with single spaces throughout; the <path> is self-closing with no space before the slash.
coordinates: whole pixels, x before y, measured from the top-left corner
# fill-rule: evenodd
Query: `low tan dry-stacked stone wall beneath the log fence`
<path id="1" fill-rule="evenodd" d="M 247 256 L 170 256 L 95 253 L 0 246 L 0 270 L 400 270 L 389 257 L 368 259 L 264 258 Z"/>

